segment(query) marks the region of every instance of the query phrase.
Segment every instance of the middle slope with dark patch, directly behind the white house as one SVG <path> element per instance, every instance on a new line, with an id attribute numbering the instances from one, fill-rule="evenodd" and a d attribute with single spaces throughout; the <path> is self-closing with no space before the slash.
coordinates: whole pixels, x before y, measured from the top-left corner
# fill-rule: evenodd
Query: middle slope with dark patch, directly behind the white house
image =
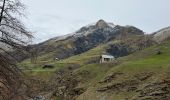
<path id="1" fill-rule="evenodd" d="M 123 57 L 154 44 L 156 43 L 150 37 L 146 39 L 145 36 L 129 37 L 126 41 L 112 40 L 110 42 L 100 44 L 99 46 L 82 54 L 66 58 L 58 63 L 99 63 L 100 55 L 102 54 L 111 54 L 115 57 Z"/>

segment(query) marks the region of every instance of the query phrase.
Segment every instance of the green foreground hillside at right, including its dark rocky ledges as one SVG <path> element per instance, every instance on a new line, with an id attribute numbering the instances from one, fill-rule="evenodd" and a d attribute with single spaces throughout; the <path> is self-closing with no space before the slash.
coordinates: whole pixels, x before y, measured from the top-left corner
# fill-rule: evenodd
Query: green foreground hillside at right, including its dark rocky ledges
<path id="1" fill-rule="evenodd" d="M 157 51 L 162 54 L 157 55 Z M 168 100 L 170 79 L 170 41 L 118 59 L 106 73 L 96 75 L 95 82 L 77 100 Z M 91 65 L 92 66 L 92 65 Z M 87 66 L 89 72 L 93 67 Z M 93 72 L 95 73 L 95 72 Z M 90 76 L 89 76 L 90 77 Z"/>

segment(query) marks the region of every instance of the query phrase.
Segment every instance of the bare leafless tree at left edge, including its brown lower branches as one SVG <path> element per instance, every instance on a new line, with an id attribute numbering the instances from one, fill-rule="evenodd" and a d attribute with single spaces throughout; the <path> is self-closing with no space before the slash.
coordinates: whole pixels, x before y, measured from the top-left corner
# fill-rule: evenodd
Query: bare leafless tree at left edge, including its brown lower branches
<path id="1" fill-rule="evenodd" d="M 20 0 L 0 0 L 0 10 L 0 99 L 14 100 L 21 86 L 20 71 L 4 54 L 10 55 L 6 47 L 23 50 L 32 35 L 20 21 L 25 10 Z"/>

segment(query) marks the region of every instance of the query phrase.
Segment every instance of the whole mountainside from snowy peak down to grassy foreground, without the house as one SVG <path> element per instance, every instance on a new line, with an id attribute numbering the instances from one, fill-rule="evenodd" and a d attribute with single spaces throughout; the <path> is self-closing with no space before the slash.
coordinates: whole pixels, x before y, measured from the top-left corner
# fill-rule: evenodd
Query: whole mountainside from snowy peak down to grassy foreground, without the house
<path id="1" fill-rule="evenodd" d="M 54 100 L 169 100 L 170 40 L 155 40 L 163 30 L 146 35 L 133 26 L 99 20 L 33 45 L 37 63 L 18 64 L 31 77 L 27 93 Z M 116 59 L 99 63 L 101 54 Z"/>

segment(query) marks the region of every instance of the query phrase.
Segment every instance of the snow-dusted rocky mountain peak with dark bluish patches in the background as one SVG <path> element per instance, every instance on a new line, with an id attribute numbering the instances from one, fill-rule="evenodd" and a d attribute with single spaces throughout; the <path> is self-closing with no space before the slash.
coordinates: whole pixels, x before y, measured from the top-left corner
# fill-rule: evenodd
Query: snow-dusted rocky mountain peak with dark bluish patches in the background
<path id="1" fill-rule="evenodd" d="M 74 33 L 55 37 L 34 45 L 34 51 L 38 52 L 38 56 L 42 60 L 49 58 L 64 59 L 86 52 L 111 40 L 143 35 L 144 32 L 136 27 L 114 25 L 99 20 L 94 24 L 80 28 Z"/>

